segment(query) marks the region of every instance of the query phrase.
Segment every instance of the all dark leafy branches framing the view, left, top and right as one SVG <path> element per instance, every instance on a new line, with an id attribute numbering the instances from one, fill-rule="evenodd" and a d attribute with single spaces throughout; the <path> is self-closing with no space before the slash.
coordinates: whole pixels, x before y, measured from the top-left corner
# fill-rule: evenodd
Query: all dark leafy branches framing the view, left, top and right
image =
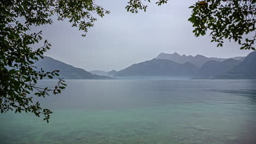
<path id="1" fill-rule="evenodd" d="M 128 0 L 127 11 L 138 13 L 146 11 L 144 2 L 150 0 Z M 162 5 L 168 0 L 156 1 Z M 237 41 L 241 49 L 255 50 L 256 0 L 207 0 L 198 1 L 192 9 L 189 21 L 193 23 L 196 37 L 210 31 L 212 41 L 223 46 L 223 40 Z M 32 27 L 51 25 L 52 17 L 57 20 L 67 19 L 72 27 L 84 31 L 94 26 L 96 16 L 103 17 L 110 12 L 94 0 L 2 0 L 0 1 L 0 110 L 15 112 L 33 112 L 36 116 L 44 115 L 49 121 L 49 109 L 42 109 L 40 103 L 33 102 L 31 95 L 45 97 L 49 93 L 58 94 L 65 88 L 63 79 L 54 88 L 37 87 L 37 81 L 59 75 L 58 70 L 37 70 L 34 63 L 43 58 L 50 44 L 42 38 L 42 31 L 32 32 Z M 44 43 L 42 44 L 42 41 Z M 35 47 L 42 44 L 42 47 Z"/>

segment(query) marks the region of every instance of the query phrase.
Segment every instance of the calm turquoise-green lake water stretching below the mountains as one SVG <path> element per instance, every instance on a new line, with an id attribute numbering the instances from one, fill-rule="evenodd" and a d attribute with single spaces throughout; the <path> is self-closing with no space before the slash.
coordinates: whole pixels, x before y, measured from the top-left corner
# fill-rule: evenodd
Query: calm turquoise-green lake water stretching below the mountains
<path id="1" fill-rule="evenodd" d="M 40 86 L 54 85 L 44 80 Z M 31 113 L 0 114 L 0 143 L 255 144 L 256 80 L 67 80 Z"/>

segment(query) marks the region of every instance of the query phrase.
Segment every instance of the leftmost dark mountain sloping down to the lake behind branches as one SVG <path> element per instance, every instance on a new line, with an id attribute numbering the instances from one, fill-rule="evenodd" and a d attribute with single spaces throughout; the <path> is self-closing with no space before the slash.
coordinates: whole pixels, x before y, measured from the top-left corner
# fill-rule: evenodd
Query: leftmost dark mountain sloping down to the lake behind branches
<path id="1" fill-rule="evenodd" d="M 54 77 L 54 79 L 57 79 L 58 77 L 64 79 L 112 79 L 112 77 L 108 76 L 91 74 L 84 69 L 75 68 L 72 65 L 46 56 L 44 56 L 43 59 L 39 59 L 34 66 L 36 66 L 38 70 L 43 68 L 44 71 L 60 70 L 60 76 Z"/>

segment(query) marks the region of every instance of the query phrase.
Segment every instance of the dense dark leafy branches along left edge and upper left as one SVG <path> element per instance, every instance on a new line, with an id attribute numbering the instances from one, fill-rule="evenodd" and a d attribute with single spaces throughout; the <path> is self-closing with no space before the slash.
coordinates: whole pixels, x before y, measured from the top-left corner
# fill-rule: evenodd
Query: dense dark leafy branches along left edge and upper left
<path id="1" fill-rule="evenodd" d="M 3 0 L 0 1 L 0 110 L 15 112 L 32 112 L 36 116 L 44 115 L 49 122 L 49 109 L 42 109 L 40 103 L 34 103 L 33 97 L 45 97 L 49 92 L 61 93 L 66 84 L 62 79 L 54 88 L 37 87 L 37 81 L 45 77 L 58 76 L 59 70 L 36 70 L 33 65 L 39 57 L 43 58 L 50 49 L 47 40 L 42 47 L 42 31 L 32 33 L 35 26 L 51 24 L 54 15 L 58 20 L 68 19 L 72 27 L 85 32 L 94 26 L 94 15 L 104 16 L 109 11 L 96 5 L 92 0 Z M 82 36 L 85 36 L 83 34 Z"/>

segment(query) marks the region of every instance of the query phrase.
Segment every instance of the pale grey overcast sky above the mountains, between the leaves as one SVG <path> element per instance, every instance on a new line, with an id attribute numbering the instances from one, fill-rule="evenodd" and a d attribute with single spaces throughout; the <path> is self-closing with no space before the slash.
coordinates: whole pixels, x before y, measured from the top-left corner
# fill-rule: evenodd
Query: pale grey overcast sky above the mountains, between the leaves
<path id="1" fill-rule="evenodd" d="M 127 1 L 96 0 L 110 14 L 98 19 L 86 37 L 68 21 L 54 19 L 53 25 L 39 27 L 53 45 L 45 55 L 85 70 L 108 71 L 153 59 L 161 52 L 223 58 L 251 52 L 240 50 L 236 43 L 217 47 L 208 36 L 195 38 L 188 7 L 196 1 L 171 0 L 161 7 L 152 3 L 146 13 L 138 14 L 127 13 Z"/>

